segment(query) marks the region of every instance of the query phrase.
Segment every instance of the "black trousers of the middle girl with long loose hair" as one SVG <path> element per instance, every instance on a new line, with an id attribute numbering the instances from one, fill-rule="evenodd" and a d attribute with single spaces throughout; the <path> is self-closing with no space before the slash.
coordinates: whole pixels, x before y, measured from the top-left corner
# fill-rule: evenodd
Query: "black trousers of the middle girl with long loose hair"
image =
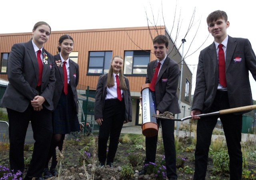
<path id="1" fill-rule="evenodd" d="M 98 158 L 100 162 L 105 162 L 106 159 L 107 162 L 114 162 L 119 136 L 123 127 L 124 115 L 124 98 L 122 101 L 119 101 L 118 99 L 107 99 L 105 101 L 103 121 L 102 125 L 100 125 L 98 139 Z M 109 146 L 107 156 L 108 138 Z"/>

